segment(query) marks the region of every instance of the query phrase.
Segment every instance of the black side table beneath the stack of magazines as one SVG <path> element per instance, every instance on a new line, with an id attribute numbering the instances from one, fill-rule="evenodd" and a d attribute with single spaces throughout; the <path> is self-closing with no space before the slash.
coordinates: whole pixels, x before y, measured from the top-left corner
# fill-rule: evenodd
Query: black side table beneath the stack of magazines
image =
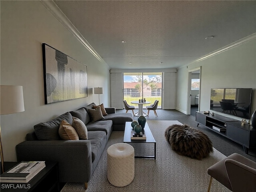
<path id="1" fill-rule="evenodd" d="M 17 162 L 16 162 L 17 164 Z M 15 162 L 5 162 L 9 170 Z M 58 162 L 45 162 L 46 167 L 28 183 L 1 183 L 1 192 L 60 192 Z M 12 166 L 10 166 L 12 165 Z"/>

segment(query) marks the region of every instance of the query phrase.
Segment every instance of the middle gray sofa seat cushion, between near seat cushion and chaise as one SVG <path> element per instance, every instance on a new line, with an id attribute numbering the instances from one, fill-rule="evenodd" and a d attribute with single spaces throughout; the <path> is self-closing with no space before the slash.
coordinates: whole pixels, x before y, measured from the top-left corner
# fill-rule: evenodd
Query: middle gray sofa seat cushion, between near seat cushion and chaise
<path id="1" fill-rule="evenodd" d="M 106 134 L 112 131 L 112 120 L 90 122 L 86 125 L 88 131 L 105 131 Z"/>

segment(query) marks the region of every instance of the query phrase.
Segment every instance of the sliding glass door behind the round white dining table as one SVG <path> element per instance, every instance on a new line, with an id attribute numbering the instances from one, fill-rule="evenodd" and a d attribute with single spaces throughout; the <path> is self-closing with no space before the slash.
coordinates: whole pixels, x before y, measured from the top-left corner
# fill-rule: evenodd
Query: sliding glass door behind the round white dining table
<path id="1" fill-rule="evenodd" d="M 131 101 L 146 99 L 154 103 L 159 100 L 158 107 L 162 106 L 162 73 L 124 73 L 124 100 L 132 105 Z"/>

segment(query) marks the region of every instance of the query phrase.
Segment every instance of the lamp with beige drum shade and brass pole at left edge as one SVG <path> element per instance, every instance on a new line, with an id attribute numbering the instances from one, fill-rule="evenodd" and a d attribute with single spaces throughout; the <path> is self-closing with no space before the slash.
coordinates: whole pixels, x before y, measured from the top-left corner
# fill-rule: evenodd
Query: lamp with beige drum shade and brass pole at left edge
<path id="1" fill-rule="evenodd" d="M 18 113 L 24 111 L 24 100 L 22 86 L 1 85 L 0 86 L 0 115 Z M 2 135 L 0 128 L 0 152 L 2 172 L 4 173 L 4 155 L 2 146 Z"/>

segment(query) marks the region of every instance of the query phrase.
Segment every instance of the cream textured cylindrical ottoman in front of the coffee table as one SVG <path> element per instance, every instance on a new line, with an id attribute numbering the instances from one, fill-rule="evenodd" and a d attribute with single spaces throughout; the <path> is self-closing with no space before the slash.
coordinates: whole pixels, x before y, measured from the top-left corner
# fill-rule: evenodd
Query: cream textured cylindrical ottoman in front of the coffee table
<path id="1" fill-rule="evenodd" d="M 134 179 L 134 148 L 127 143 L 110 146 L 108 153 L 108 181 L 117 187 L 123 187 Z"/>

